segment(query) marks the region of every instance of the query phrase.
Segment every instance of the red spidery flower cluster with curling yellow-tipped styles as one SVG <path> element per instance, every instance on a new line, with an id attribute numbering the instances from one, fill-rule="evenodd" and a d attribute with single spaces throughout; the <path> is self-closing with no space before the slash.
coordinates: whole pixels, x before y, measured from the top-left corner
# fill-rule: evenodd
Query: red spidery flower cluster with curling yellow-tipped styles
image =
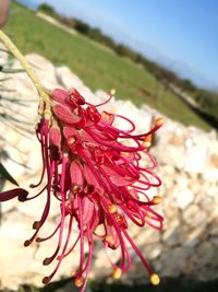
<path id="1" fill-rule="evenodd" d="M 112 97 L 112 92 L 109 100 Z M 160 230 L 162 217 L 154 211 L 153 206 L 160 202 L 161 197 L 149 198 L 146 191 L 150 187 L 160 186 L 159 177 L 154 173 L 156 161 L 149 153 L 152 135 L 162 125 L 158 118 L 154 127 L 146 133 L 134 135 L 135 125 L 128 118 L 99 113 L 99 105 L 85 102 L 76 91 L 57 89 L 50 93 L 51 115 L 44 115 L 37 125 L 36 133 L 41 147 L 43 174 L 37 185 L 46 185 L 33 197 L 22 189 L 1 194 L 0 200 L 19 196 L 22 201 L 47 196 L 45 209 L 38 221 L 35 221 L 33 236 L 25 242 L 28 246 L 58 235 L 58 244 L 53 254 L 44 260 L 49 265 L 55 259 L 57 266 L 43 282 L 48 283 L 62 260 L 80 246 L 77 270 L 72 272 L 74 283 L 85 290 L 92 266 L 94 241 L 101 241 L 106 252 L 108 248 L 120 248 L 121 260 L 111 262 L 112 275 L 120 278 L 131 267 L 128 245 L 131 245 L 150 275 L 154 284 L 159 283 L 131 236 L 128 229 L 132 221 L 138 226 L 146 224 Z M 108 101 L 107 101 L 108 102 Z M 116 119 L 130 124 L 129 130 L 118 129 Z M 142 162 L 146 162 L 144 165 Z M 39 231 L 46 222 L 52 198 L 60 201 L 60 222 L 47 237 L 40 237 Z M 77 238 L 72 242 L 72 226 L 77 225 Z M 66 229 L 65 229 L 66 227 Z M 85 254 L 85 245 L 88 254 Z"/>

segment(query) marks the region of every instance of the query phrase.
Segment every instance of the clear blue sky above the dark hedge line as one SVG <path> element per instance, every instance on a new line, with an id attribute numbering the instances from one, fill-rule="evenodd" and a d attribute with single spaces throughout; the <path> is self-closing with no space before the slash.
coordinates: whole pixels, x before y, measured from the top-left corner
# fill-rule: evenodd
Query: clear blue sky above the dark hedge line
<path id="1" fill-rule="evenodd" d="M 218 89 L 217 0 L 21 1 L 47 2 L 198 85 Z"/>

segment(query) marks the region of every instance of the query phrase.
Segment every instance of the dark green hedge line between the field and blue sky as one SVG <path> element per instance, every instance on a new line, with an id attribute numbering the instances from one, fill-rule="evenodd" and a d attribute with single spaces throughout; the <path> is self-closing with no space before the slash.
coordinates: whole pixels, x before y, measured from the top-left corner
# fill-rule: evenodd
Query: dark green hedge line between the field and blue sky
<path id="1" fill-rule="evenodd" d="M 114 52 L 122 57 L 126 57 L 140 63 L 146 70 L 148 70 L 157 80 L 165 84 L 172 83 L 181 91 L 189 93 L 190 96 L 195 98 L 201 107 L 201 112 L 209 115 L 211 118 L 218 118 L 218 93 L 214 91 L 208 91 L 201 89 L 192 83 L 189 79 L 182 79 L 178 77 L 174 72 L 165 67 L 156 63 L 155 61 L 148 60 L 142 54 L 131 49 L 129 46 L 123 44 L 117 44 L 110 36 L 105 35 L 99 28 L 92 27 L 84 21 L 77 20 L 75 17 L 66 17 L 60 15 L 52 7 L 47 3 L 43 3 L 38 7 L 39 11 L 55 17 L 62 24 L 76 30 L 78 33 L 109 47 Z"/>

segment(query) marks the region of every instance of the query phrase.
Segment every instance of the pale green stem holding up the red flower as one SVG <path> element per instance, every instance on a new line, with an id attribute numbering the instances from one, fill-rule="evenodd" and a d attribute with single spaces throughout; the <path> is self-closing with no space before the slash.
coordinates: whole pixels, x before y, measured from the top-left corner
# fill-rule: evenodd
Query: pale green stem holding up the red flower
<path id="1" fill-rule="evenodd" d="M 26 61 L 25 57 L 21 54 L 21 51 L 16 48 L 16 46 L 11 42 L 11 39 L 0 30 L 0 40 L 5 45 L 5 47 L 14 55 L 14 57 L 21 62 L 22 67 L 33 81 L 35 87 L 38 91 L 39 97 L 43 100 L 43 102 L 46 103 L 47 113 L 50 108 L 50 97 L 47 93 L 47 90 L 44 87 L 43 83 L 36 75 L 33 68 L 29 66 L 29 63 Z"/>

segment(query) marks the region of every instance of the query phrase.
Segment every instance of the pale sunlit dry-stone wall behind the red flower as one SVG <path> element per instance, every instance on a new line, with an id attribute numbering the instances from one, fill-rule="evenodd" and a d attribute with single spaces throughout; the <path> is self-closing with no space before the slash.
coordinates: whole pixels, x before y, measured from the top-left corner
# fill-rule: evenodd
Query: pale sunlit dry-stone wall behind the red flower
<path id="1" fill-rule="evenodd" d="M 7 56 L 1 57 L 7 60 Z M 102 91 L 93 93 L 66 67 L 55 68 L 45 58 L 32 54 L 28 61 L 43 80 L 45 86 L 75 87 L 87 101 L 99 103 L 107 94 Z M 2 59 L 0 59 L 2 60 Z M 15 61 L 14 68 L 20 65 Z M 34 136 L 37 120 L 37 93 L 25 73 L 12 74 L 4 85 L 15 92 L 7 92 L 7 96 L 21 101 L 1 101 L 1 113 L 22 120 L 0 121 L 1 160 L 8 171 L 27 187 L 37 182 L 40 175 L 40 150 Z M 100 86 L 100 84 L 99 84 Z M 119 90 L 119 89 L 118 89 Z M 3 94 L 2 94 L 3 95 Z M 23 106 L 25 104 L 25 106 Z M 104 108 L 121 113 L 133 119 L 137 131 L 146 131 L 154 116 L 154 109 L 143 105 L 136 108 L 131 102 L 112 100 Z M 118 125 L 124 127 L 125 125 Z M 24 129 L 23 129 L 24 128 Z M 131 233 L 143 254 L 152 261 L 161 277 L 189 276 L 196 280 L 208 280 L 217 277 L 218 271 L 218 140 L 215 131 L 204 132 L 194 127 L 184 127 L 166 118 L 166 124 L 156 136 L 152 149 L 162 178 L 160 194 L 162 203 L 157 208 L 165 217 L 161 232 L 152 227 L 143 230 L 131 227 Z M 4 189 L 10 184 L 2 182 Z M 156 194 L 153 194 L 156 195 Z M 0 226 L 0 288 L 15 289 L 21 283 L 40 285 L 41 278 L 49 273 L 51 267 L 41 267 L 43 259 L 52 254 L 55 240 L 40 246 L 34 244 L 23 247 L 23 241 L 32 235 L 32 223 L 38 219 L 38 209 L 44 199 L 20 203 L 12 200 L 1 206 Z M 51 217 L 44 230 L 53 230 L 59 208 L 53 206 Z M 123 281 L 146 281 L 146 271 L 132 254 L 132 270 L 123 276 Z M 75 267 L 77 254 L 73 260 L 63 262 L 56 279 L 69 277 Z M 112 255 L 113 260 L 119 254 Z M 93 277 L 109 275 L 109 265 L 105 261 L 105 252 L 98 247 L 93 265 Z"/>

